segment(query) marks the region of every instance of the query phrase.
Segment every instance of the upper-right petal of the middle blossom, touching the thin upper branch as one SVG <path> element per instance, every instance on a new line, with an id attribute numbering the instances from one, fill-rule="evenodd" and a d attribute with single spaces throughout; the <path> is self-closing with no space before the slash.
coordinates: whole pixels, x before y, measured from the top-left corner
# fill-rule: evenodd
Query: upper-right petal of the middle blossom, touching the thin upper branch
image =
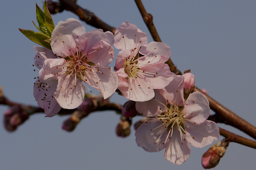
<path id="1" fill-rule="evenodd" d="M 166 62 L 171 55 L 170 47 L 163 42 L 151 42 L 147 46 L 142 46 L 139 53 L 145 55 L 142 57 L 144 62 L 140 61 L 140 64 L 146 64 L 148 61 L 151 64 L 159 64 Z M 157 57 L 155 57 L 157 56 Z M 154 60 L 152 60 L 154 59 Z"/>

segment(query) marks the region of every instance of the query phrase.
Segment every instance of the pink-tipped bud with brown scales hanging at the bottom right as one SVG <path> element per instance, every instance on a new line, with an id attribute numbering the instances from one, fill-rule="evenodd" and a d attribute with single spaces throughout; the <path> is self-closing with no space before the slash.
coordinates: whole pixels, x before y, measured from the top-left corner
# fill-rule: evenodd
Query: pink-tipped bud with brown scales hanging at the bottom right
<path id="1" fill-rule="evenodd" d="M 228 148 L 229 142 L 229 139 L 223 139 L 212 145 L 211 148 L 203 154 L 201 163 L 204 169 L 214 168 L 218 165 L 220 158 L 224 156 Z"/>

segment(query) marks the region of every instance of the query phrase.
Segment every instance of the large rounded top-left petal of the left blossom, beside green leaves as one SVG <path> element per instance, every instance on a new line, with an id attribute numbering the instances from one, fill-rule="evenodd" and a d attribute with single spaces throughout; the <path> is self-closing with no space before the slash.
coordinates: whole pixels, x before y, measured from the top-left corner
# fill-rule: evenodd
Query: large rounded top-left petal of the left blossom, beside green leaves
<path id="1" fill-rule="evenodd" d="M 75 54 L 77 50 L 77 36 L 80 37 L 85 33 L 84 26 L 77 19 L 68 18 L 65 22 L 60 21 L 52 31 L 52 51 L 64 58 L 72 55 L 71 52 Z"/>

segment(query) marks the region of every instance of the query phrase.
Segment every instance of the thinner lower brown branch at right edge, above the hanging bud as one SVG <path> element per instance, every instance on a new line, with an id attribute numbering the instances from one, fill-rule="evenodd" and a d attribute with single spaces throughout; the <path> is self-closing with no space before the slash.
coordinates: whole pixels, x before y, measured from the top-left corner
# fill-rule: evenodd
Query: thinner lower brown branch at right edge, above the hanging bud
<path id="1" fill-rule="evenodd" d="M 251 148 L 256 149 L 256 142 L 242 136 L 236 135 L 235 133 L 229 132 L 225 129 L 220 128 L 220 135 L 230 139 L 230 142 L 236 142 Z"/>

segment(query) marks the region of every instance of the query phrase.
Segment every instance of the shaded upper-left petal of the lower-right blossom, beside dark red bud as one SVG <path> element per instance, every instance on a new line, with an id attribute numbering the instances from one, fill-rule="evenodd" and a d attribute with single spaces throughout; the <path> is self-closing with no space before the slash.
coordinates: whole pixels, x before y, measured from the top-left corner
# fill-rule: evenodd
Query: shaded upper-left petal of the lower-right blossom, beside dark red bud
<path id="1" fill-rule="evenodd" d="M 155 89 L 155 97 L 145 102 L 136 102 L 136 110 L 144 116 L 153 117 L 161 115 L 164 112 L 164 106 L 167 106 L 167 101 L 164 97 L 165 89 Z M 160 109 L 161 108 L 161 109 Z"/>

